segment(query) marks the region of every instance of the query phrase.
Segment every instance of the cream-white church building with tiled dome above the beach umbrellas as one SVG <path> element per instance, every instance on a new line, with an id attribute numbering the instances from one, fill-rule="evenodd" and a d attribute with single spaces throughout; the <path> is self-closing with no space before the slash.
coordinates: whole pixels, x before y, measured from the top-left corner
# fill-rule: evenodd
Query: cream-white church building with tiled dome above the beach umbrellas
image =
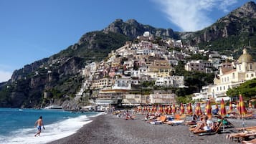
<path id="1" fill-rule="evenodd" d="M 219 75 L 214 78 L 214 85 L 209 85 L 207 97 L 213 97 L 216 102 L 229 100 L 226 92 L 231 88 L 240 86 L 247 80 L 256 78 L 256 62 L 253 62 L 252 56 L 243 49 L 243 54 L 233 63 L 222 63 L 219 69 Z"/>

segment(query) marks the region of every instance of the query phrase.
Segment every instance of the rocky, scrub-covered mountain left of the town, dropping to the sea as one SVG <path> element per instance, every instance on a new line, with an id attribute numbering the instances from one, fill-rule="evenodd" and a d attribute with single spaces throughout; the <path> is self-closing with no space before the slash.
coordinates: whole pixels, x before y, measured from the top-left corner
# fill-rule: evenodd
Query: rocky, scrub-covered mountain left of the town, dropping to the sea
<path id="1" fill-rule="evenodd" d="M 134 19 L 117 19 L 102 31 L 84 34 L 76 44 L 58 54 L 16 70 L 9 82 L 0 85 L 0 107 L 72 103 L 82 84 L 80 69 L 85 64 L 104 59 L 111 50 L 122 47 L 126 41 L 146 31 L 157 37 L 175 36 L 172 29 L 157 29 L 139 24 Z"/>

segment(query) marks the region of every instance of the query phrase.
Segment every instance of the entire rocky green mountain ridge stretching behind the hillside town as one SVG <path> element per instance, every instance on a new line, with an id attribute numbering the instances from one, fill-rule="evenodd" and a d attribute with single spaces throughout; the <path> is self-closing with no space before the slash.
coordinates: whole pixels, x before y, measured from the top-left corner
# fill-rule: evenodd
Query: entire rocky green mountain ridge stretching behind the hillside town
<path id="1" fill-rule="evenodd" d="M 126 41 L 133 41 L 146 31 L 155 37 L 182 38 L 187 44 L 223 50 L 229 54 L 251 41 L 252 49 L 249 50 L 255 56 L 255 5 L 250 1 L 197 32 L 174 32 L 173 29 L 138 23 L 135 19 L 116 19 L 103 30 L 83 34 L 77 43 L 61 52 L 15 70 L 11 80 L 0 85 L 0 107 L 41 107 L 51 102 L 70 102 L 74 105 L 68 108 L 76 107 L 79 102 L 73 98 L 82 83 L 80 69 L 85 64 L 104 59 L 109 52 L 122 47 Z M 249 17 L 252 19 L 248 16 L 252 16 Z M 234 46 L 225 44 L 229 41 L 234 41 Z M 44 96 L 47 98 L 42 98 Z"/>

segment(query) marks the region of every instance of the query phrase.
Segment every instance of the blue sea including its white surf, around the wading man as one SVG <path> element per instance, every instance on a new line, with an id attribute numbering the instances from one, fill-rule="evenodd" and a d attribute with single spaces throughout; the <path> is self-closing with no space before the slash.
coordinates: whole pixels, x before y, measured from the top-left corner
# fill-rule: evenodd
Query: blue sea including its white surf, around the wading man
<path id="1" fill-rule="evenodd" d="M 63 110 L 34 110 L 0 108 L 1 144 L 37 144 L 49 143 L 75 133 L 82 125 L 90 123 L 90 117 L 100 112 L 68 112 Z M 38 137 L 34 137 L 37 128 L 34 123 L 42 116 L 44 128 Z"/>

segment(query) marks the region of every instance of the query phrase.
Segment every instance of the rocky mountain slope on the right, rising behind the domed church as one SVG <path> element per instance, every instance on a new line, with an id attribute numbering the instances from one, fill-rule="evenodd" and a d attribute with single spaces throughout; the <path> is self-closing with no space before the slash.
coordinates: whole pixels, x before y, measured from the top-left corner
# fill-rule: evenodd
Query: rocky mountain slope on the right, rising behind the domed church
<path id="1" fill-rule="evenodd" d="M 233 54 L 235 58 L 242 53 L 242 47 L 256 58 L 256 4 L 250 1 L 240 8 L 218 19 L 210 27 L 198 32 L 180 33 L 184 42 L 212 49 L 222 54 Z M 249 47 L 250 46 L 250 47 Z"/>

